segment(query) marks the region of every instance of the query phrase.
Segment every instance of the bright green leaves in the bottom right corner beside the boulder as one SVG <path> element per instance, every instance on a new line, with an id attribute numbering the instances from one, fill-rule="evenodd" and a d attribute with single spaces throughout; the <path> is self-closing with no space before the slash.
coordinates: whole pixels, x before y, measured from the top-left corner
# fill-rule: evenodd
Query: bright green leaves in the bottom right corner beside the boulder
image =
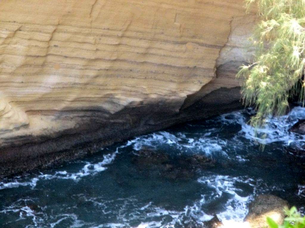
<path id="1" fill-rule="evenodd" d="M 271 218 L 267 218 L 267 223 L 270 228 L 305 228 L 305 217 L 302 217 L 297 212 L 296 207 L 292 207 L 290 210 L 285 209 L 286 218 L 283 225 L 278 225 Z"/>

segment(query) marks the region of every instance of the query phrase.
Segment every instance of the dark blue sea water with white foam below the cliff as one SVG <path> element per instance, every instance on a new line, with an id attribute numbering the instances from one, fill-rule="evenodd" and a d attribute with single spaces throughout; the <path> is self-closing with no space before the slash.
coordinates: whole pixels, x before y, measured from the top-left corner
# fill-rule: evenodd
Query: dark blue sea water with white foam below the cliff
<path id="1" fill-rule="evenodd" d="M 249 202 L 261 193 L 278 195 L 303 210 L 305 161 L 294 151 L 303 148 L 305 138 L 288 129 L 305 119 L 305 109 L 270 119 L 257 135 L 246 124 L 252 114 L 247 109 L 187 123 L 1 182 L 0 227 L 179 228 L 202 224 L 214 214 L 230 224 L 241 222 Z M 169 164 L 194 154 L 216 163 L 183 178 L 171 177 L 158 165 L 139 164 L 142 149 L 157 151 Z"/>

